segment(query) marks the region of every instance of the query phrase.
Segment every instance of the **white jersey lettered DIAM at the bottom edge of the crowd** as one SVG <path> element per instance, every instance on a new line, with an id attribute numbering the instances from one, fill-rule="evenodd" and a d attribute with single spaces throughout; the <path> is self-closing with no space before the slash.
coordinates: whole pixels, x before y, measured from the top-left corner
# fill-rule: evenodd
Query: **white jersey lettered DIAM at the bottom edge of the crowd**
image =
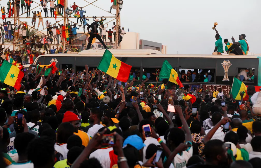
<path id="1" fill-rule="evenodd" d="M 187 163 L 188 163 L 188 159 L 190 157 L 192 157 L 193 155 L 193 148 L 190 147 L 188 151 L 183 151 L 182 154 L 180 155 L 179 153 L 176 154 L 176 156 L 174 157 L 174 167 L 175 168 L 186 168 Z"/>

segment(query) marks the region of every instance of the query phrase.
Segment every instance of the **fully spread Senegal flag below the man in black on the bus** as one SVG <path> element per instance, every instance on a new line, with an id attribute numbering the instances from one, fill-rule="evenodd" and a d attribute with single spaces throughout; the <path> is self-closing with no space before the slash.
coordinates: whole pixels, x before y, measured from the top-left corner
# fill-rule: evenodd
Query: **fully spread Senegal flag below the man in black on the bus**
<path id="1" fill-rule="evenodd" d="M 114 55 L 106 49 L 97 69 L 107 73 L 113 78 L 120 80 L 121 82 L 127 82 L 131 67 L 132 66 L 127 65 L 115 58 Z"/>

